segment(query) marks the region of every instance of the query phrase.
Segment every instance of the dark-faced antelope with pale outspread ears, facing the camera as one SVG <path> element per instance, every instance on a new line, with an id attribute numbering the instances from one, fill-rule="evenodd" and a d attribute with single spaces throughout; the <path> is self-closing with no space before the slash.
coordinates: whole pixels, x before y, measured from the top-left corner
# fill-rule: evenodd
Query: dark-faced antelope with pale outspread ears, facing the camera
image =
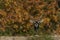
<path id="1" fill-rule="evenodd" d="M 31 16 L 31 19 L 30 19 L 30 22 L 33 23 L 34 25 L 34 30 L 37 32 L 38 29 L 39 29 L 39 24 L 42 23 L 44 20 L 42 19 L 42 16 L 40 16 L 39 20 L 35 20 L 32 16 Z"/>

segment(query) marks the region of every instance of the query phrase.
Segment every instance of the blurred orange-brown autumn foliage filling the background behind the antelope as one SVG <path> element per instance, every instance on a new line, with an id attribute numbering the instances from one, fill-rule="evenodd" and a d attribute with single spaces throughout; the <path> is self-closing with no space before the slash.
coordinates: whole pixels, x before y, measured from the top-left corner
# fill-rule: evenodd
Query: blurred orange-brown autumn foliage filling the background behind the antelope
<path id="1" fill-rule="evenodd" d="M 60 34 L 56 0 L 0 0 L 0 35 L 34 35 L 30 20 L 39 20 L 41 15 L 37 33 Z"/>

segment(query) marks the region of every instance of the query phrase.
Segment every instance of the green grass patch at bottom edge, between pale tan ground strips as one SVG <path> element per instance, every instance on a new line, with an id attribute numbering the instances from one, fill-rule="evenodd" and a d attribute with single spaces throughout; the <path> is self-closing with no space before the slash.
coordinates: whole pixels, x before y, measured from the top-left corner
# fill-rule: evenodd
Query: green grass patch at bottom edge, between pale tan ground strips
<path id="1" fill-rule="evenodd" d="M 39 36 L 33 36 L 33 37 L 28 37 L 27 40 L 54 40 L 51 35 L 39 35 Z"/>

